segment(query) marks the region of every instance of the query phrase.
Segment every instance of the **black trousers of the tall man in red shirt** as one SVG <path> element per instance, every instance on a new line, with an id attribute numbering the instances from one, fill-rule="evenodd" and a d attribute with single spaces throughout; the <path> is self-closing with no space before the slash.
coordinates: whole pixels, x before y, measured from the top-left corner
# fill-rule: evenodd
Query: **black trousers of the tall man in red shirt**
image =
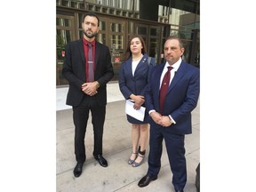
<path id="1" fill-rule="evenodd" d="M 77 163 L 84 163 L 86 160 L 84 136 L 90 111 L 92 113 L 94 135 L 94 148 L 92 155 L 102 155 L 102 138 L 106 106 L 100 107 L 96 100 L 84 99 L 82 105 L 73 107 L 73 121 L 75 124 L 75 154 Z"/>

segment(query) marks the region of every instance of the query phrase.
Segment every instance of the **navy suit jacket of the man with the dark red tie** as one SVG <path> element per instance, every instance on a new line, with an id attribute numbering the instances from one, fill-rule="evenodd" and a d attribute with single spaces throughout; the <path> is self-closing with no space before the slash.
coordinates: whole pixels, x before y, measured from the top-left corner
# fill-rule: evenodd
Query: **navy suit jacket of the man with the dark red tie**
<path id="1" fill-rule="evenodd" d="M 146 107 L 148 111 L 155 109 L 159 112 L 159 86 L 163 69 L 164 63 L 156 66 L 150 76 L 146 91 Z M 182 60 L 164 100 L 163 115 L 171 115 L 176 122 L 170 128 L 167 127 L 170 132 L 177 134 L 192 132 L 191 111 L 196 108 L 199 88 L 199 69 Z M 150 118 L 150 124 L 154 127 L 161 126 L 156 124 L 152 118 Z"/>

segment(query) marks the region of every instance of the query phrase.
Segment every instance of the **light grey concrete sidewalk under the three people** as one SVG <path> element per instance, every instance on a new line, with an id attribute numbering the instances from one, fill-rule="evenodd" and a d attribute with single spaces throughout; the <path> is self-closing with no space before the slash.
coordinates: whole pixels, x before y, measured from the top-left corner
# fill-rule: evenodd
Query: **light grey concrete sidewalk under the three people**
<path id="1" fill-rule="evenodd" d="M 59 90 L 58 90 L 59 89 Z M 66 89 L 66 91 L 65 91 Z M 62 94 L 61 94 L 62 92 Z M 165 147 L 163 148 L 162 168 L 158 179 L 148 187 L 139 188 L 138 182 L 148 170 L 148 148 L 144 163 L 139 167 L 127 164 L 131 155 L 131 124 L 124 113 L 124 98 L 118 84 L 108 84 L 108 105 L 103 138 L 103 156 L 108 160 L 108 167 L 103 168 L 92 156 L 93 132 L 91 117 L 86 132 L 86 162 L 79 178 L 73 176 L 76 165 L 74 154 L 74 125 L 72 109 L 65 107 L 67 88 L 57 88 L 56 106 L 56 191 L 58 192 L 174 192 L 172 172 Z M 61 98 L 60 95 L 63 97 Z M 64 104 L 63 104 L 64 101 Z M 184 191 L 196 192 L 196 166 L 200 162 L 200 122 L 199 102 L 193 111 L 193 133 L 186 136 L 186 157 L 188 182 Z"/>

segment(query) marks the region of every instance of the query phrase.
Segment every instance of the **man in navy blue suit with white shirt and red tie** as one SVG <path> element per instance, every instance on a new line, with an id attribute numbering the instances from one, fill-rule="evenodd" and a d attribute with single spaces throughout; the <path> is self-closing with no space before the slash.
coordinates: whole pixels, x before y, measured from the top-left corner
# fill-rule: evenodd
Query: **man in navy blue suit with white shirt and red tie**
<path id="1" fill-rule="evenodd" d="M 139 181 L 140 188 L 157 179 L 161 168 L 163 139 L 175 191 L 182 192 L 187 182 L 184 140 L 185 134 L 192 133 L 191 111 L 196 108 L 199 97 L 199 69 L 181 60 L 183 52 L 180 38 L 169 36 L 164 43 L 166 62 L 156 66 L 148 83 L 145 100 L 151 117 L 150 148 L 148 172 Z M 165 78 L 170 75 L 171 78 Z M 164 85 L 167 86 L 165 93 Z"/>

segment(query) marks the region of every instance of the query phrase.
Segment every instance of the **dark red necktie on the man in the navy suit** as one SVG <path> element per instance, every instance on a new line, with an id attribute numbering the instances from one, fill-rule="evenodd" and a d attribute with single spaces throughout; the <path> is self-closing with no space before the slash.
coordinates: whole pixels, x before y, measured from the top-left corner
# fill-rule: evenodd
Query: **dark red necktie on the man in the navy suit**
<path id="1" fill-rule="evenodd" d="M 168 70 L 167 72 L 164 74 L 164 78 L 161 84 L 161 89 L 159 92 L 159 99 L 160 99 L 160 113 L 163 113 L 163 108 L 164 108 L 164 99 L 165 99 L 165 95 L 168 91 L 169 88 L 169 82 L 170 82 L 170 78 L 171 78 L 171 70 L 172 67 L 167 67 Z"/>

